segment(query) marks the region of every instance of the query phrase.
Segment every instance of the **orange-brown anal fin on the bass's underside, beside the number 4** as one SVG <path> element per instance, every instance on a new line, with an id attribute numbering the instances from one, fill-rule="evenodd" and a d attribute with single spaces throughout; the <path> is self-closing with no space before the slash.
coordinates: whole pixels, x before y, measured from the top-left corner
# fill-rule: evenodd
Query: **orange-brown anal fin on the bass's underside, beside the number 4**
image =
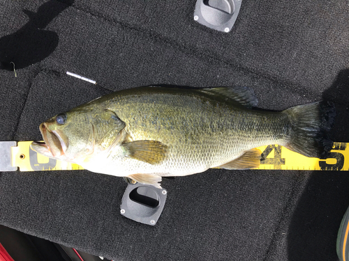
<path id="1" fill-rule="evenodd" d="M 218 168 L 226 169 L 248 169 L 258 168 L 260 166 L 260 155 L 262 153 L 258 149 L 247 150 L 242 156 L 225 163 Z"/>

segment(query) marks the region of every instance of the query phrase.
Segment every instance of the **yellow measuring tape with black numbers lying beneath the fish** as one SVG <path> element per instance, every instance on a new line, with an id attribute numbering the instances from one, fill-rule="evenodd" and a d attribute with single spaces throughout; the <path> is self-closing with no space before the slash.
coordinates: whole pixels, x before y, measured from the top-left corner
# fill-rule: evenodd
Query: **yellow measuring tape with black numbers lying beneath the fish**
<path id="1" fill-rule="evenodd" d="M 30 149 L 32 141 L 20 141 L 11 147 L 11 164 L 20 171 L 65 171 L 84 169 L 57 159 L 49 159 Z M 292 152 L 279 145 L 258 148 L 262 152 L 257 169 L 299 170 L 299 171 L 349 171 L 348 143 L 336 142 L 327 159 L 310 158 Z"/>

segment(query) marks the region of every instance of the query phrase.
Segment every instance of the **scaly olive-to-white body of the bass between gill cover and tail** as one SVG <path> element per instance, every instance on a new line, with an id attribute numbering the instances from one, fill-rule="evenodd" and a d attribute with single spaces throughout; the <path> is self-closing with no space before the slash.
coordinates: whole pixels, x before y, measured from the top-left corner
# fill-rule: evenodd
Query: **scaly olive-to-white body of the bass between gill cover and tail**
<path id="1" fill-rule="evenodd" d="M 160 141 L 169 146 L 162 164 L 124 159 L 128 168 L 124 172 L 188 175 L 221 166 L 245 150 L 285 141 L 280 126 L 288 118 L 282 113 L 253 111 L 193 90 L 151 93 L 155 89 L 119 92 L 102 104 L 126 123 L 131 141 Z"/>

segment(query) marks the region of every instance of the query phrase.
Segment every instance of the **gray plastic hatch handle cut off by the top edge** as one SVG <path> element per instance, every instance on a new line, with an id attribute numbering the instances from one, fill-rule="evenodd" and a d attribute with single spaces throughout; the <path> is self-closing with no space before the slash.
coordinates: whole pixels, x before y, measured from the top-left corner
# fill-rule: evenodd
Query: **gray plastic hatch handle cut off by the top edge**
<path id="1" fill-rule="evenodd" d="M 242 0 L 197 0 L 194 20 L 202 25 L 230 32 L 235 24 Z"/>

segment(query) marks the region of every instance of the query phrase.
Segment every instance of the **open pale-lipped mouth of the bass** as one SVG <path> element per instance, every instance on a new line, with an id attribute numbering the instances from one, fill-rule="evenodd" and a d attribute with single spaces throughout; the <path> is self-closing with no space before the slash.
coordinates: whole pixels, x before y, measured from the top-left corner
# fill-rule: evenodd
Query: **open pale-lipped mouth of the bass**
<path id="1" fill-rule="evenodd" d="M 57 131 L 51 131 L 45 122 L 40 124 L 40 132 L 45 143 L 36 143 L 37 145 L 45 146 L 53 157 L 64 155 L 67 149 L 66 142 Z"/>

